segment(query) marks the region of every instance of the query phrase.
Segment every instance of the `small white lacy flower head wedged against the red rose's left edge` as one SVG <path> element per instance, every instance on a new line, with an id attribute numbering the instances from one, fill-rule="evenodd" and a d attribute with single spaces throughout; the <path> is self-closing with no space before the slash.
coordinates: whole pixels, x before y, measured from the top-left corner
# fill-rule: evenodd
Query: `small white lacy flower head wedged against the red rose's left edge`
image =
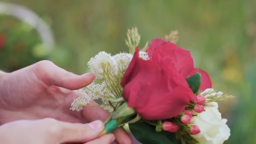
<path id="1" fill-rule="evenodd" d="M 117 62 L 117 67 L 121 71 L 125 71 L 128 65 L 130 64 L 133 55 L 131 53 L 118 53 L 115 56 L 113 56 L 113 58 Z"/>

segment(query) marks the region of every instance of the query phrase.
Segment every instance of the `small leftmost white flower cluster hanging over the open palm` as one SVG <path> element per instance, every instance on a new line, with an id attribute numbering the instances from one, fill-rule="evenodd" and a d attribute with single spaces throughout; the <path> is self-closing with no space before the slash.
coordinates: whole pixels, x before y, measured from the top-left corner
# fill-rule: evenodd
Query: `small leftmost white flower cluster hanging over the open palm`
<path id="1" fill-rule="evenodd" d="M 71 110 L 79 112 L 83 109 L 83 106 L 87 105 L 89 103 L 88 97 L 82 96 L 73 101 L 71 104 Z"/>

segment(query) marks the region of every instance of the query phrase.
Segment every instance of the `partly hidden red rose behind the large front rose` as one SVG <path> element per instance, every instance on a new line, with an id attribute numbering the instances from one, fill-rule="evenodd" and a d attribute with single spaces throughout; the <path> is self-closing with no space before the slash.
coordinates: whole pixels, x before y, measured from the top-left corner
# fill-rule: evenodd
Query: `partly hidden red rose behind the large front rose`
<path id="1" fill-rule="evenodd" d="M 194 61 L 189 51 L 179 48 L 177 45 L 171 42 L 166 42 L 160 38 L 151 40 L 149 48 L 147 48 L 149 58 L 155 53 L 155 51 L 163 53 L 161 59 L 165 57 L 170 58 L 179 74 L 184 78 L 199 72 L 202 76 L 199 90 L 204 91 L 206 88 L 211 88 L 211 79 L 208 73 L 202 69 L 194 67 Z"/>

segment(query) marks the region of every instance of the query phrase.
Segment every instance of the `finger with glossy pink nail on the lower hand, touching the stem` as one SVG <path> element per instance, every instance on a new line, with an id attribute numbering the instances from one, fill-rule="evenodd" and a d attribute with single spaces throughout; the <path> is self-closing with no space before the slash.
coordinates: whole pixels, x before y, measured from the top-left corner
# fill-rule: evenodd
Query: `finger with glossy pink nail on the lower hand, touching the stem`
<path id="1" fill-rule="evenodd" d="M 57 123 L 51 122 L 50 125 L 53 125 L 49 129 L 53 129 L 58 143 L 91 141 L 104 130 L 104 123 L 100 120 L 87 124 L 57 121 Z"/>

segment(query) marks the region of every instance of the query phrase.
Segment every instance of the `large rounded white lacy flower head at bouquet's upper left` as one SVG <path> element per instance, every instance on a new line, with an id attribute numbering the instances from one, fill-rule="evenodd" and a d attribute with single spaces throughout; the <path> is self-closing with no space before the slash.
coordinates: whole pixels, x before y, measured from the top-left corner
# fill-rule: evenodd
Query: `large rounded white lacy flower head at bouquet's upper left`
<path id="1" fill-rule="evenodd" d="M 91 71 L 95 75 L 96 78 L 103 78 L 102 74 L 104 70 L 107 70 L 112 75 L 117 74 L 117 64 L 113 57 L 104 52 L 99 52 L 96 56 L 88 61 L 88 67 L 91 68 Z"/>

